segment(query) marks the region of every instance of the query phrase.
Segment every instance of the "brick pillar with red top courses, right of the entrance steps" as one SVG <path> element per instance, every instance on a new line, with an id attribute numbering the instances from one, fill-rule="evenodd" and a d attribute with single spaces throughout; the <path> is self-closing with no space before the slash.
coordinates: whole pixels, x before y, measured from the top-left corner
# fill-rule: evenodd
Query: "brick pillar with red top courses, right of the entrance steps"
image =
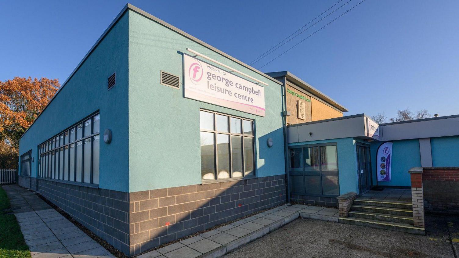
<path id="1" fill-rule="evenodd" d="M 414 226 L 418 228 L 425 227 L 422 170 L 422 168 L 410 168 L 408 171 L 411 175 L 411 200 L 413 202 Z"/>

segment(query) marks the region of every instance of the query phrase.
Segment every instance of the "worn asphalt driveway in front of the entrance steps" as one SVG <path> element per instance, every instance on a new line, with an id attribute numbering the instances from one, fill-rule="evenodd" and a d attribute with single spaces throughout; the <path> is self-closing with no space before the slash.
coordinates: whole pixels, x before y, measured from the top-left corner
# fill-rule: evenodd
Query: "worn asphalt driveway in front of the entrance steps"
<path id="1" fill-rule="evenodd" d="M 459 218 L 428 217 L 426 236 L 297 219 L 225 258 L 457 258 Z"/>

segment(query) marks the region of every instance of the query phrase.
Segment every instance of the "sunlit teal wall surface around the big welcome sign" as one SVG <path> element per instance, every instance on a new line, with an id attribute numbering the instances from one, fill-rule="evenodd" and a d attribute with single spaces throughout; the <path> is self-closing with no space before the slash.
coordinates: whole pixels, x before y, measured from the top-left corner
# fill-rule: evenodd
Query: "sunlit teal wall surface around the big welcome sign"
<path id="1" fill-rule="evenodd" d="M 199 109 L 255 120 L 257 176 L 285 174 L 281 85 L 133 11 L 129 13 L 129 191 L 201 184 Z M 266 117 L 183 97 L 160 84 L 160 71 L 183 83 L 189 47 L 268 83 Z M 274 146 L 268 148 L 271 137 Z"/>

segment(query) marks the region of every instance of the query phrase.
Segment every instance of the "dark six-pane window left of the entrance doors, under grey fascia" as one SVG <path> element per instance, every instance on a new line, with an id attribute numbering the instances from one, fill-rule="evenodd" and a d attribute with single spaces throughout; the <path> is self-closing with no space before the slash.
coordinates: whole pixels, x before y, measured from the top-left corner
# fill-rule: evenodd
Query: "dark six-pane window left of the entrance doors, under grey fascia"
<path id="1" fill-rule="evenodd" d="M 338 196 L 336 144 L 289 149 L 291 192 L 313 196 Z"/>

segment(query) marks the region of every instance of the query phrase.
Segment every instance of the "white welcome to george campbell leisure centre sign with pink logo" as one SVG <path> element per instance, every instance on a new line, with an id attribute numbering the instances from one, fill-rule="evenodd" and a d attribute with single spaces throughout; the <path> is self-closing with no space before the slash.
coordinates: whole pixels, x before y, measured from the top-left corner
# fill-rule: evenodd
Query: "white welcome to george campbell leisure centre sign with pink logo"
<path id="1" fill-rule="evenodd" d="M 186 54 L 183 63 L 185 98 L 265 116 L 262 86 Z"/>

